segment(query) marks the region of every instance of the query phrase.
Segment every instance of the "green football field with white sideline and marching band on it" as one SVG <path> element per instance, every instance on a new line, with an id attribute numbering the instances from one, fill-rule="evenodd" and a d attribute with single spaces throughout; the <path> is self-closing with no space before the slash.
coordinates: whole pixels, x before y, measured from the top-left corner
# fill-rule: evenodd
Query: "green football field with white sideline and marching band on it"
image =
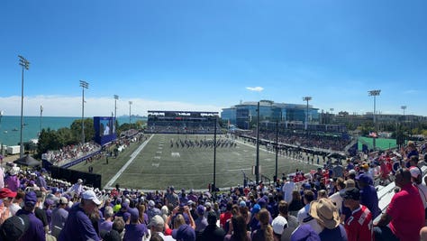
<path id="1" fill-rule="evenodd" d="M 177 140 L 213 141 L 213 135 L 152 134 L 142 144 L 133 143 L 119 154 L 118 158 L 109 158 L 106 164 L 102 158 L 92 163 L 81 162 L 71 169 L 87 171 L 89 165 L 94 172 L 102 174 L 102 186 L 114 187 L 119 183 L 123 188 L 138 190 L 164 190 L 173 185 L 177 190 L 207 189 L 213 182 L 213 147 L 177 147 Z M 225 135 L 218 135 L 217 141 L 225 141 Z M 174 146 L 171 147 L 171 140 Z M 235 187 L 243 183 L 243 172 L 255 181 L 251 168 L 256 162 L 256 148 L 241 140 L 232 140 L 237 145 L 224 145 L 216 148 L 216 186 Z M 261 174 L 273 179 L 275 172 L 275 153 L 268 153 L 260 147 L 259 165 Z M 285 156 L 278 156 L 278 176 L 282 173 L 304 172 L 316 169 L 307 164 Z M 261 179 L 261 178 L 260 178 Z"/>

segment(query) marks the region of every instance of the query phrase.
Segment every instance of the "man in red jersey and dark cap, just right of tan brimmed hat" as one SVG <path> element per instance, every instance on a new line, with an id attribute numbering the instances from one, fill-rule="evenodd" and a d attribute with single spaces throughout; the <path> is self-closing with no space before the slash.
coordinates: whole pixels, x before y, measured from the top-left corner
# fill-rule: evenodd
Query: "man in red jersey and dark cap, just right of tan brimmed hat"
<path id="1" fill-rule="evenodd" d="M 351 216 L 344 224 L 349 241 L 374 240 L 372 214 L 369 209 L 360 204 L 360 191 L 357 188 L 346 190 L 342 198 L 344 206 L 351 210 Z"/>

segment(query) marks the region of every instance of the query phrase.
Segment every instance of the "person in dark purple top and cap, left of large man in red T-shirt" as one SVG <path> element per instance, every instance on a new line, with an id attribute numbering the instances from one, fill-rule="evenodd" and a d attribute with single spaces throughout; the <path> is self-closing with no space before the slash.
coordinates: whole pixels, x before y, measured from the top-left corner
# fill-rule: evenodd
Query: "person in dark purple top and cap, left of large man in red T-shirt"
<path id="1" fill-rule="evenodd" d="M 360 204 L 366 206 L 372 213 L 372 218 L 375 219 L 381 212 L 378 207 L 377 190 L 371 184 L 369 177 L 366 173 L 362 173 L 356 177 L 360 189 Z"/>

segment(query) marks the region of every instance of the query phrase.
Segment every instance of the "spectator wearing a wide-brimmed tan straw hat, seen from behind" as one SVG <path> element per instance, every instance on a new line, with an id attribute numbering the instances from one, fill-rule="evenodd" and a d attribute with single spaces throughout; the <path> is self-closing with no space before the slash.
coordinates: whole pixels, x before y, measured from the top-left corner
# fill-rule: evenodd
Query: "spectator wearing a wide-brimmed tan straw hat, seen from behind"
<path id="1" fill-rule="evenodd" d="M 319 233 L 322 241 L 347 241 L 345 228 L 340 224 L 338 210 L 330 199 L 313 201 L 310 205 L 310 216 L 323 227 Z"/>

